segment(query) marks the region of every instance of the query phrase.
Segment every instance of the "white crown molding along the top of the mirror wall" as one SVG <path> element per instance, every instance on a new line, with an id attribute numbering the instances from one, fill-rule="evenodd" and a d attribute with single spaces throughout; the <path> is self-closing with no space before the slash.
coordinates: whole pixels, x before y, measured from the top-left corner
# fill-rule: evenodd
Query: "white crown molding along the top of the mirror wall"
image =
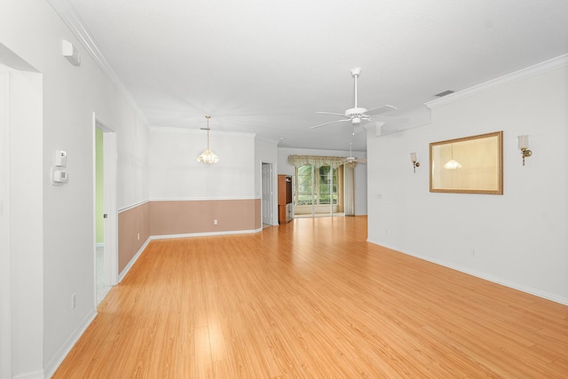
<path id="1" fill-rule="evenodd" d="M 429 101 L 428 103 L 424 103 L 424 105 L 426 107 L 429 107 L 430 109 L 446 106 L 447 104 L 454 103 L 455 101 L 460 101 L 461 99 L 469 98 L 470 96 L 477 95 L 478 93 L 493 90 L 505 84 L 514 83 L 519 80 L 527 79 L 535 75 L 544 74 L 548 71 L 556 70 L 556 68 L 566 66 L 568 66 L 568 54 L 545 60 L 544 62 L 538 63 L 534 66 L 520 69 L 511 74 L 503 75 L 499 78 L 490 80 L 485 83 L 477 84 L 473 87 L 469 87 L 466 90 L 454 92 L 442 99 L 436 99 Z"/>

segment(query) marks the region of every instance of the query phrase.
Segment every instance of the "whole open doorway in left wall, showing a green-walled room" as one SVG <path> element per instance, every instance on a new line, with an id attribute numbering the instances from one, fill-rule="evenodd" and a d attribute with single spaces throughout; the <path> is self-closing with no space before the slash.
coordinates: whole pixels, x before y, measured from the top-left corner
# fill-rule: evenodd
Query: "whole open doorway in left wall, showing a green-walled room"
<path id="1" fill-rule="evenodd" d="M 93 113 L 95 306 L 118 282 L 116 132 Z"/>

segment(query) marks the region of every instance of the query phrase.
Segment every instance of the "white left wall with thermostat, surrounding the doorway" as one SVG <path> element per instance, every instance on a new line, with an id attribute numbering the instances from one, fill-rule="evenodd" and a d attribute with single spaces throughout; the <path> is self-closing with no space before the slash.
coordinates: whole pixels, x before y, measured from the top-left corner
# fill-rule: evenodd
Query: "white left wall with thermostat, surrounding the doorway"
<path id="1" fill-rule="evenodd" d="M 25 142 L 13 141 L 12 144 L 13 151 L 28 152 L 28 158 L 33 157 L 39 167 L 37 174 L 28 172 L 26 182 L 12 181 L 12 190 L 17 193 L 22 186 L 40 183 L 31 188 L 34 201 L 37 197 L 43 199 L 40 201 L 43 209 L 30 212 L 30 217 L 43 215 L 42 226 L 28 223 L 25 231 L 41 245 L 41 248 L 28 251 L 29 262 L 34 262 L 32 257 L 36 257 L 35 262 L 43 259 L 43 282 L 30 280 L 28 283 L 29 291 L 43 294 L 43 302 L 28 302 L 43 307 L 43 318 L 39 318 L 43 320 L 35 321 L 41 325 L 30 324 L 28 328 L 43 330 L 43 336 L 26 340 L 15 337 L 13 360 L 17 365 L 12 375 L 36 377 L 34 375 L 45 369 L 45 375 L 49 376 L 68 344 L 96 312 L 93 290 L 93 112 L 116 130 L 119 208 L 148 198 L 148 129 L 49 3 L 36 0 L 0 2 L 0 38 L 6 49 L 35 67 L 43 81 L 41 124 L 29 125 L 30 130 L 43 130 L 42 149 L 37 151 L 34 145 Z M 63 39 L 73 43 L 80 52 L 80 66 L 71 65 L 61 55 Z M 29 151 L 30 148 L 34 150 Z M 56 149 L 67 152 L 69 181 L 65 186 L 51 186 L 50 182 Z M 37 153 L 39 157 L 36 158 Z M 25 266 L 12 268 L 14 277 L 25 278 L 29 274 Z M 75 309 L 70 306 L 72 294 L 76 294 Z M 26 295 L 12 293 L 13 298 L 28 299 Z M 12 320 L 28 318 L 18 314 L 18 308 L 12 311 Z M 37 314 L 41 315 L 41 312 Z M 29 354 L 36 349 L 43 354 L 39 361 Z"/>

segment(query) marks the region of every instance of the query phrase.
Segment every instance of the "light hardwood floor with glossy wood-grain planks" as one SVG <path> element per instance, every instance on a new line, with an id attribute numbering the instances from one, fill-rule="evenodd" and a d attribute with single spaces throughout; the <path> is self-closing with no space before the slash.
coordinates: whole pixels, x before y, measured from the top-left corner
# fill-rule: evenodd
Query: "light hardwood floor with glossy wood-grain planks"
<path id="1" fill-rule="evenodd" d="M 319 217 L 153 241 L 53 378 L 568 377 L 568 307 L 366 239 Z"/>

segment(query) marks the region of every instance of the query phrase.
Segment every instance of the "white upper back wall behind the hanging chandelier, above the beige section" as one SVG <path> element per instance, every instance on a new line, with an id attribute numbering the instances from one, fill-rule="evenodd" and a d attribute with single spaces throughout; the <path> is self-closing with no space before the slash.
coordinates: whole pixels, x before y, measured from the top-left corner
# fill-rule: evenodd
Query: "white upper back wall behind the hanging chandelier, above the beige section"
<path id="1" fill-rule="evenodd" d="M 153 128 L 150 131 L 151 200 L 254 199 L 255 135 L 210 131 L 218 163 L 200 163 L 206 130 Z"/>

